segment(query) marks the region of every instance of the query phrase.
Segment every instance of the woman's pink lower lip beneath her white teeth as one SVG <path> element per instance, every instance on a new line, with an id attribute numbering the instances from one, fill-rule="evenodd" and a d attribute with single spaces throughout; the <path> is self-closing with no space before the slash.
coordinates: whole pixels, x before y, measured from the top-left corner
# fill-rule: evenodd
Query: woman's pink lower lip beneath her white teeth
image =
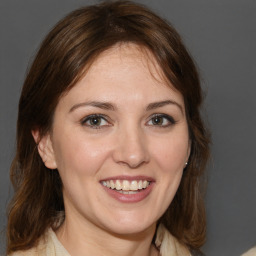
<path id="1" fill-rule="evenodd" d="M 102 187 L 111 197 L 113 197 L 114 199 L 116 199 L 119 202 L 137 203 L 137 202 L 144 200 L 150 194 L 150 192 L 152 191 L 152 188 L 153 188 L 153 182 L 151 182 L 147 188 L 141 190 L 140 192 L 137 192 L 136 194 L 122 194 L 122 193 L 117 192 L 116 190 L 107 188 L 103 185 L 102 185 Z"/>

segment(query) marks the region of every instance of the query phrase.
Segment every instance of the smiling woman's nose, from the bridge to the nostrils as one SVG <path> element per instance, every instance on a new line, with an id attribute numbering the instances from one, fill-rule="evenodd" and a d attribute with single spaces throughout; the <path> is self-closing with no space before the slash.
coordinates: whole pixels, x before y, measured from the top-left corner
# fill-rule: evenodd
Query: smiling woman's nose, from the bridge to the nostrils
<path id="1" fill-rule="evenodd" d="M 132 169 L 149 162 L 146 136 L 139 128 L 119 132 L 113 159 L 116 163 L 127 165 Z"/>

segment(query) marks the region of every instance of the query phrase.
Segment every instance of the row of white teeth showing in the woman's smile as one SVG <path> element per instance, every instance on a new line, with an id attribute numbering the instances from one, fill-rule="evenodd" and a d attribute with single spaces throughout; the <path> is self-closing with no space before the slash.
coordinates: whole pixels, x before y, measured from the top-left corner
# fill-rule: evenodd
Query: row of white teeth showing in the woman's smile
<path id="1" fill-rule="evenodd" d="M 121 191 L 123 194 L 132 194 L 141 189 L 145 189 L 149 186 L 150 181 L 147 180 L 107 180 L 102 181 L 101 184 L 107 188 Z M 126 193 L 127 192 L 127 193 Z"/>

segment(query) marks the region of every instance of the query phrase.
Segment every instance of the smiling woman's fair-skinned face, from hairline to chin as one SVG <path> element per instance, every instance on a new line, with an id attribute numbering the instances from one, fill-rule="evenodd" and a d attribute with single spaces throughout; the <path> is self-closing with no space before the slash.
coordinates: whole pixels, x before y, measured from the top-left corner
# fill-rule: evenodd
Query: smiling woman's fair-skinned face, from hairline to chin
<path id="1" fill-rule="evenodd" d="M 66 220 L 131 234 L 170 205 L 190 152 L 188 126 L 182 95 L 149 56 L 115 46 L 60 99 L 44 141 Z"/>

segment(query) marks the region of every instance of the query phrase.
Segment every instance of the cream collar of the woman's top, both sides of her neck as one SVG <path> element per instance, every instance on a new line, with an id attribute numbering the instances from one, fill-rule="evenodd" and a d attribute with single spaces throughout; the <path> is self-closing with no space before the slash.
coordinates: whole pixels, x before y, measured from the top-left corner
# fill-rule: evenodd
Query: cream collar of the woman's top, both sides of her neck
<path id="1" fill-rule="evenodd" d="M 161 256 L 191 256 L 188 249 L 181 245 L 163 225 L 159 225 L 156 235 L 156 246 Z M 50 228 L 40 239 L 38 245 L 26 251 L 14 252 L 8 256 L 71 256 Z M 248 255 L 251 256 L 251 255 Z"/>

